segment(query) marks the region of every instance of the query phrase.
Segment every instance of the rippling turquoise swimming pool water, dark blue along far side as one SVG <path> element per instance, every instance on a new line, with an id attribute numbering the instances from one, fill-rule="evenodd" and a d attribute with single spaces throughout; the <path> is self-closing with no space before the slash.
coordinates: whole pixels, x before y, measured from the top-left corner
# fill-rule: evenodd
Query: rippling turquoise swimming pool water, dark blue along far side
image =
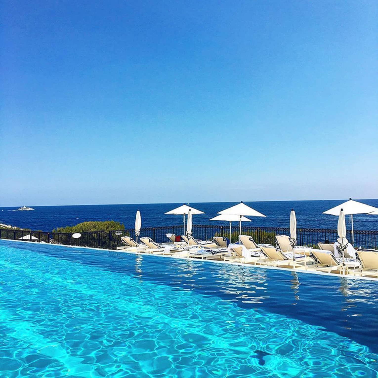
<path id="1" fill-rule="evenodd" d="M 376 377 L 377 282 L 0 241 L 1 376 Z"/>

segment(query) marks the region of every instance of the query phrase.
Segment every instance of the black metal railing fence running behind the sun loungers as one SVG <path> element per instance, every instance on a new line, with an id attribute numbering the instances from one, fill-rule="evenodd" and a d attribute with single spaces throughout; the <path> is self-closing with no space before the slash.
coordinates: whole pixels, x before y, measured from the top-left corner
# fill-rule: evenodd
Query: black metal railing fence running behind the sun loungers
<path id="1" fill-rule="evenodd" d="M 193 225 L 192 231 L 193 236 L 196 239 L 211 240 L 214 235 L 229 237 L 230 229 L 229 226 Z M 149 227 L 142 228 L 140 236 L 149 236 L 157 243 L 164 243 L 169 242 L 166 234 L 171 233 L 181 235 L 183 232 L 183 226 Z M 231 241 L 235 242 L 239 235 L 239 227 L 232 226 L 231 233 Z M 281 227 L 242 227 L 242 234 L 252 235 L 257 243 L 274 244 L 274 237 L 276 235 L 290 235 L 290 230 Z M 129 235 L 135 239 L 135 230 L 81 232 L 81 237 L 77 239 L 72 235 L 73 234 L 61 232 L 0 229 L 0 239 L 26 240 L 106 249 L 116 249 L 117 246 L 121 246 L 122 236 Z M 333 243 L 337 238 L 337 230 L 310 228 L 297 229 L 298 245 L 316 246 L 317 243 L 324 242 L 326 239 Z M 347 231 L 347 238 L 350 242 L 352 241 L 351 231 Z M 376 249 L 378 248 L 378 231 L 357 230 L 354 232 L 354 240 L 355 247 Z"/>

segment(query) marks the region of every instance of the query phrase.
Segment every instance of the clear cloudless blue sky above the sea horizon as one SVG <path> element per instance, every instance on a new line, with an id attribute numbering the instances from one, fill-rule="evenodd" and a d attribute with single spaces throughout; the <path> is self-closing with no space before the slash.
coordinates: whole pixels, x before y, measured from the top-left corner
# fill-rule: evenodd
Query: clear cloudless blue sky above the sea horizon
<path id="1" fill-rule="evenodd" d="M 1 7 L 0 205 L 377 197 L 375 1 Z"/>

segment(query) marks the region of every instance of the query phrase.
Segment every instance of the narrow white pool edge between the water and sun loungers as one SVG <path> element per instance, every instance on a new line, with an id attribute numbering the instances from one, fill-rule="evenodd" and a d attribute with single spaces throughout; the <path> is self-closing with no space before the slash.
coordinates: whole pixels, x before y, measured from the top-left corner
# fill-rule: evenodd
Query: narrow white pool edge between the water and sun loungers
<path id="1" fill-rule="evenodd" d="M 6 240 L 8 242 L 17 242 L 17 243 L 30 243 L 30 244 L 39 244 L 36 242 L 29 242 L 27 240 L 14 240 L 14 239 L 0 239 L 0 240 Z M 68 247 L 68 248 L 82 248 L 82 249 L 95 249 L 96 251 L 108 251 L 108 252 L 114 252 L 114 253 L 129 253 L 134 254 L 138 256 L 155 256 L 155 257 L 167 257 L 169 259 L 181 259 L 181 260 L 190 260 L 195 262 L 209 262 L 209 263 L 217 263 L 217 264 L 231 264 L 231 265 L 239 265 L 244 266 L 245 268 L 257 268 L 257 269 L 274 269 L 274 270 L 283 270 L 283 271 L 289 271 L 289 272 L 296 272 L 296 273 L 306 273 L 306 274 L 318 274 L 320 276 L 332 276 L 332 277 L 343 277 L 347 279 L 362 279 L 362 280 L 368 280 L 368 281 L 378 281 L 378 278 L 373 277 L 361 277 L 361 276 L 351 276 L 349 274 L 335 274 L 335 273 L 327 273 L 327 272 L 321 272 L 316 270 L 306 270 L 306 269 L 290 269 L 290 268 L 280 268 L 279 266 L 271 266 L 271 265 L 253 265 L 253 264 L 245 264 L 240 262 L 230 262 L 230 261 L 217 261 L 217 260 L 206 260 L 206 259 L 194 259 L 193 257 L 172 257 L 168 255 L 159 255 L 159 254 L 152 254 L 152 253 L 143 253 L 143 252 L 133 252 L 133 251 L 126 251 L 126 250 L 116 250 L 116 249 L 107 249 L 107 248 L 92 248 L 92 247 L 82 247 L 77 245 L 66 245 L 66 244 L 50 244 L 50 243 L 42 243 L 43 246 L 56 246 L 56 247 Z"/>

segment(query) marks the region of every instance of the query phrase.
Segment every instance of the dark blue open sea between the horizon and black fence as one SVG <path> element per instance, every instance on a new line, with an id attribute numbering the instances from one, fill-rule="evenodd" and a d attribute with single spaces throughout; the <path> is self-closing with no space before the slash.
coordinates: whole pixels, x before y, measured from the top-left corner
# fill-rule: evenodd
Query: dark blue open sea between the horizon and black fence
<path id="1" fill-rule="evenodd" d="M 296 211 L 298 228 L 337 228 L 338 217 L 324 215 L 328 210 L 345 200 L 324 201 L 263 201 L 245 202 L 252 208 L 266 215 L 266 218 L 251 217 L 248 225 L 259 227 L 288 227 L 290 210 Z M 378 199 L 360 200 L 363 203 L 378 207 Z M 190 203 L 194 208 L 205 214 L 194 215 L 193 223 L 197 225 L 227 224 L 210 222 L 218 211 L 226 209 L 237 202 L 203 202 Z M 164 213 L 180 206 L 182 203 L 149 203 L 119 205 L 75 205 L 75 206 L 33 206 L 34 211 L 13 211 L 14 208 L 0 208 L 0 223 L 29 228 L 32 230 L 51 231 L 56 227 L 70 226 L 85 221 L 115 220 L 124 224 L 125 228 L 133 228 L 135 212 L 140 210 L 142 227 L 181 225 L 180 215 Z M 21 205 L 20 205 L 21 206 Z M 346 216 L 347 228 L 350 229 L 350 217 Z M 355 215 L 353 217 L 356 230 L 378 230 L 378 215 Z"/>

